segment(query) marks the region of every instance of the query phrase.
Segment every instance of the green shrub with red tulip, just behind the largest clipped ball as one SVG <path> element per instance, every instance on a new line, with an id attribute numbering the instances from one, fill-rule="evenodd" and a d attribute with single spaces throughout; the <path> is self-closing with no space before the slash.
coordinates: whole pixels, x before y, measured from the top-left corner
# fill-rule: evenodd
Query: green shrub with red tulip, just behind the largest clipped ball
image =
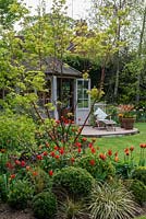
<path id="1" fill-rule="evenodd" d="M 92 164 L 92 161 L 94 162 Z M 109 180 L 115 175 L 115 169 L 110 161 L 102 161 L 97 155 L 88 154 L 76 161 L 77 165 L 86 169 L 98 181 Z"/>

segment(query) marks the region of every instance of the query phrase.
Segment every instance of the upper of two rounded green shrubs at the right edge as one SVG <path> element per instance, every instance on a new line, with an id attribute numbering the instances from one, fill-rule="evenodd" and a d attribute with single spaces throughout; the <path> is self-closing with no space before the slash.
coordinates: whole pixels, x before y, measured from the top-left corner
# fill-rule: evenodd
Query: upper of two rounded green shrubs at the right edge
<path id="1" fill-rule="evenodd" d="M 138 166 L 132 173 L 132 178 L 136 178 L 146 185 L 146 166 Z"/>

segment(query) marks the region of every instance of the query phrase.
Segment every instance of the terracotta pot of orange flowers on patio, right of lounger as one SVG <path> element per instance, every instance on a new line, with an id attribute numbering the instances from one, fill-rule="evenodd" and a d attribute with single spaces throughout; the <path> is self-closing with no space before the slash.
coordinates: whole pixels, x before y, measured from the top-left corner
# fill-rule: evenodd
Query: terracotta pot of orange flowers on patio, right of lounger
<path id="1" fill-rule="evenodd" d="M 133 129 L 135 123 L 134 106 L 131 104 L 119 106 L 121 128 Z"/>

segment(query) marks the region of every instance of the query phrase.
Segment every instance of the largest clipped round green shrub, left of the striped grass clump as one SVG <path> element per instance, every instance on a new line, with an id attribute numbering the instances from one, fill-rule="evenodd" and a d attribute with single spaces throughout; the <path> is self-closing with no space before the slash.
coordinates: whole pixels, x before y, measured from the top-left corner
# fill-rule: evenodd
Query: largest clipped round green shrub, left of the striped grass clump
<path id="1" fill-rule="evenodd" d="M 56 191 L 65 189 L 76 197 L 84 197 L 89 195 L 93 183 L 94 178 L 86 170 L 69 166 L 54 174 L 52 187 Z"/>

